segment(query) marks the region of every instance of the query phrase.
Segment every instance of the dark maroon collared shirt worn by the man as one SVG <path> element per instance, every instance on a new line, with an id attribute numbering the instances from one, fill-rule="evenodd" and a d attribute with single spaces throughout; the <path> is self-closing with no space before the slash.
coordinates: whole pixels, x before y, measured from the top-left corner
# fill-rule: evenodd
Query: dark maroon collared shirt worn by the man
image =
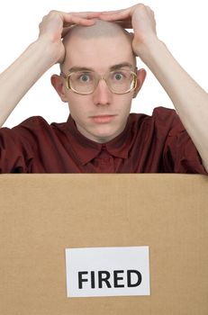
<path id="1" fill-rule="evenodd" d="M 1 173 L 207 174 L 174 110 L 131 113 L 125 130 L 100 144 L 84 137 L 69 116 L 64 123 L 32 117 L 0 130 Z"/>

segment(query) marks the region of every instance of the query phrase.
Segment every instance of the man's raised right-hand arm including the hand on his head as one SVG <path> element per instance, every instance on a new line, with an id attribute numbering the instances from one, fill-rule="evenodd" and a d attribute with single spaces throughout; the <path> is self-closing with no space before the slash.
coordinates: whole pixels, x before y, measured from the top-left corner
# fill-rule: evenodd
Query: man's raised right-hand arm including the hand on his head
<path id="1" fill-rule="evenodd" d="M 133 28 L 135 54 L 166 90 L 208 172 L 208 94 L 177 63 L 166 45 L 158 40 L 153 12 L 148 6 L 137 4 L 125 10 L 104 13 L 101 18 L 123 21 L 124 27 Z"/>

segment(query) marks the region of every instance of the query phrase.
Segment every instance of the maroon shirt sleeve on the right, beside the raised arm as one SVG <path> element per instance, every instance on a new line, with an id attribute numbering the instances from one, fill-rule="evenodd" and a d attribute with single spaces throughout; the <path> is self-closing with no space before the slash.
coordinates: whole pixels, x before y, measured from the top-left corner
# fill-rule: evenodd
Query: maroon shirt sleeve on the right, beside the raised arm
<path id="1" fill-rule="evenodd" d="M 208 175 L 193 140 L 188 135 L 176 112 L 167 134 L 163 163 L 166 173 Z"/>

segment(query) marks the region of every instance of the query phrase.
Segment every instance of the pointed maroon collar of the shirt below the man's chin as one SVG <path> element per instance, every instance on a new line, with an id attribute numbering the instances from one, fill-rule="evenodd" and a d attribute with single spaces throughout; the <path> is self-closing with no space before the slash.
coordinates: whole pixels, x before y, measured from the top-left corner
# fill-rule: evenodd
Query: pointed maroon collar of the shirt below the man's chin
<path id="1" fill-rule="evenodd" d="M 68 117 L 68 130 L 69 137 L 71 139 L 70 145 L 77 158 L 80 160 L 82 165 L 90 162 L 92 159 L 97 157 L 102 149 L 113 157 L 127 158 L 129 149 L 131 146 L 131 132 L 130 132 L 130 121 L 128 119 L 125 129 L 120 135 L 106 143 L 98 143 L 91 139 L 87 139 L 78 130 L 75 121 L 71 115 Z"/>

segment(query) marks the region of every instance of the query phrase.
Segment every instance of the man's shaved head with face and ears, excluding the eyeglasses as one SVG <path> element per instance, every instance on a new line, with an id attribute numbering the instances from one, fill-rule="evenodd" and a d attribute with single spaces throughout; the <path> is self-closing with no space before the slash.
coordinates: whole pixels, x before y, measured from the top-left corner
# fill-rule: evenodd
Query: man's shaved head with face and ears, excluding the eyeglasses
<path id="1" fill-rule="evenodd" d="M 63 43 L 66 56 L 60 67 L 64 74 L 81 71 L 85 75 L 92 71 L 95 77 L 102 76 L 107 82 L 104 79 L 98 81 L 90 94 L 77 94 L 68 89 L 63 76 L 52 76 L 52 85 L 62 101 L 68 103 L 77 129 L 88 139 L 107 142 L 125 128 L 132 98 L 139 92 L 146 76 L 144 69 L 136 69 L 131 35 L 118 24 L 97 20 L 93 26 L 72 27 Z M 113 77 L 118 80 L 123 73 L 135 72 L 137 87 L 125 94 L 113 93 L 106 84 L 112 84 L 113 79 L 108 76 L 112 71 L 116 71 Z M 88 80 L 89 76 L 81 76 L 83 78 Z"/>

